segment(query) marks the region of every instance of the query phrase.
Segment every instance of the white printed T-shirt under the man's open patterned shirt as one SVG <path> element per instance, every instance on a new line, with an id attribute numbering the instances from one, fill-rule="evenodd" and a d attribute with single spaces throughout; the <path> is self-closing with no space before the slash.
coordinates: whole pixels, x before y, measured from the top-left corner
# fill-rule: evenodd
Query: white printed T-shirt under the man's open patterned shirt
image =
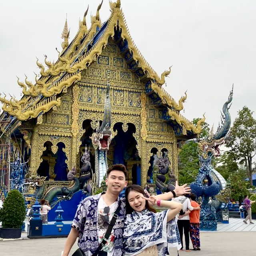
<path id="1" fill-rule="evenodd" d="M 99 234 L 99 243 L 102 242 L 107 229 L 108 229 L 108 223 L 110 223 L 113 214 L 115 212 L 115 210 L 118 207 L 118 202 L 114 202 L 113 204 L 111 204 L 109 206 L 109 213 L 106 214 L 104 212 L 104 208 L 107 207 L 106 203 L 104 202 L 102 196 L 100 196 L 99 202 L 98 202 L 98 234 Z M 109 216 L 109 222 L 106 223 L 104 221 L 103 216 L 104 215 L 108 215 Z M 102 250 L 104 250 L 105 252 L 108 253 L 108 256 L 113 256 L 114 254 L 114 230 L 112 229 L 112 232 L 108 238 L 108 241 L 106 242 L 105 246 L 102 247 Z"/>

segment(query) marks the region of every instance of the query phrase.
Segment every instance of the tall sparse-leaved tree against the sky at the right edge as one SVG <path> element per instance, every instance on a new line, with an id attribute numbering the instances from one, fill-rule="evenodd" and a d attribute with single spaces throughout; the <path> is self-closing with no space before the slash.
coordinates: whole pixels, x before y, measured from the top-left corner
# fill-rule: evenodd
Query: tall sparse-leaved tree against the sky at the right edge
<path id="1" fill-rule="evenodd" d="M 256 120 L 252 111 L 244 106 L 238 111 L 238 118 L 230 130 L 229 147 L 234 154 L 234 160 L 245 164 L 250 185 L 252 186 L 253 157 L 256 154 Z"/>

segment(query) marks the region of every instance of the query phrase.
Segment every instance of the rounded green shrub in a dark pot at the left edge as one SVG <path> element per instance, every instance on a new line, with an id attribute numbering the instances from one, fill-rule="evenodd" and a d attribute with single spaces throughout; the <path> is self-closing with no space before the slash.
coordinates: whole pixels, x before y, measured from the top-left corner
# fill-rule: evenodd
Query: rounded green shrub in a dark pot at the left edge
<path id="1" fill-rule="evenodd" d="M 25 202 L 18 190 L 11 190 L 0 210 L 1 238 L 20 238 L 21 226 L 26 218 Z"/>

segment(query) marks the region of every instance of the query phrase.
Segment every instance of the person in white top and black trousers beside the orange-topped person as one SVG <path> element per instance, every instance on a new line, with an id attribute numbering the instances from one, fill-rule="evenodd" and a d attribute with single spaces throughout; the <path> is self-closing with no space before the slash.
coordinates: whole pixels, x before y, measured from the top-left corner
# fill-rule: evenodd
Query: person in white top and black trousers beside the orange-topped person
<path id="1" fill-rule="evenodd" d="M 183 250 L 183 232 L 185 236 L 185 245 L 186 245 L 186 252 L 190 252 L 189 248 L 189 230 L 190 230 L 190 220 L 189 220 L 189 214 L 192 210 L 200 210 L 200 207 L 193 208 L 191 206 L 190 200 L 186 196 L 178 196 L 173 199 L 175 202 L 179 202 L 182 204 L 182 211 L 180 211 L 180 214 L 178 216 L 178 230 L 180 234 L 180 240 L 182 247 L 180 248 L 180 251 Z"/>

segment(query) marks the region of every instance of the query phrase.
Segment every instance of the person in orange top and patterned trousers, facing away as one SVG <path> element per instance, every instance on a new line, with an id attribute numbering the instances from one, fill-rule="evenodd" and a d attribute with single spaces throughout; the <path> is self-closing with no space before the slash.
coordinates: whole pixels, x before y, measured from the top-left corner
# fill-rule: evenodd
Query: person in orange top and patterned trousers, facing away
<path id="1" fill-rule="evenodd" d="M 191 193 L 189 196 L 191 206 L 194 209 L 200 208 L 199 204 L 196 202 L 196 195 Z M 190 239 L 193 245 L 193 251 L 200 251 L 200 210 L 193 210 L 189 214 L 190 219 Z"/>

